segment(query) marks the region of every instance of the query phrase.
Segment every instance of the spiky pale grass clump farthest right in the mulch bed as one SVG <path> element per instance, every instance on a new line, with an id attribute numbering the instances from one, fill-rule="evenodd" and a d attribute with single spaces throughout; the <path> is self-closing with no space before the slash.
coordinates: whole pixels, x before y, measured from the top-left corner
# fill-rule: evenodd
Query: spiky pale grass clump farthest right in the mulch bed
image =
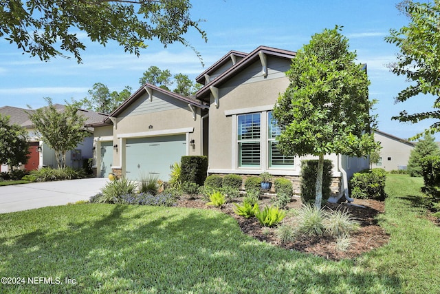
<path id="1" fill-rule="evenodd" d="M 333 237 L 349 236 L 359 229 L 360 224 L 347 210 L 329 211 L 325 213 L 325 231 Z"/>

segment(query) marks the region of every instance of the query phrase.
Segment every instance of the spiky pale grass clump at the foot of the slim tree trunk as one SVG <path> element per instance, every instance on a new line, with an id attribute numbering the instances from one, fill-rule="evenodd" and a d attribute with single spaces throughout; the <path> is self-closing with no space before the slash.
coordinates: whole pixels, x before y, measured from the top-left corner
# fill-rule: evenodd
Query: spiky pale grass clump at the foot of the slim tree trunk
<path id="1" fill-rule="evenodd" d="M 325 231 L 322 209 L 303 204 L 298 210 L 298 231 L 306 235 L 322 235 Z"/>

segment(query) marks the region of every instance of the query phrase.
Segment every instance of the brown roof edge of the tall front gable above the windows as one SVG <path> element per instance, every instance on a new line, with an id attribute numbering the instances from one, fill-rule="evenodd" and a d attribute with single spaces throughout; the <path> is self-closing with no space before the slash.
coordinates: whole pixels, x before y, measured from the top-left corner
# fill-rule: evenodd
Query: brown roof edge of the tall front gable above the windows
<path id="1" fill-rule="evenodd" d="M 296 52 L 294 51 L 276 49 L 267 46 L 259 46 L 254 51 L 246 55 L 243 59 L 235 63 L 234 66 L 230 67 L 228 70 L 225 70 L 225 72 L 217 76 L 217 78 L 214 78 L 214 80 L 210 81 L 210 83 L 203 86 L 197 92 L 196 98 L 199 98 L 201 100 L 206 99 L 206 97 L 209 96 L 211 86 L 219 87 L 219 85 L 225 83 L 225 81 L 228 81 L 230 78 L 238 74 L 241 70 L 243 70 L 243 68 L 248 67 L 249 65 L 254 63 L 255 60 L 260 58 L 259 52 L 270 56 L 281 57 L 284 59 L 293 59 L 296 55 Z"/>

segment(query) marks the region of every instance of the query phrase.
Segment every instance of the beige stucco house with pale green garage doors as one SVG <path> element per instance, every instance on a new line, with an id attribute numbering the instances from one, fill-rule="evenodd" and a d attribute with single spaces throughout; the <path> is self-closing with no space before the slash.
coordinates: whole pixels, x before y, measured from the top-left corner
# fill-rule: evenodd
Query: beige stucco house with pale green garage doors
<path id="1" fill-rule="evenodd" d="M 268 171 L 285 176 L 299 193 L 300 162 L 276 148 L 280 129 L 272 120 L 278 95 L 289 85 L 295 52 L 260 46 L 250 53 L 230 51 L 197 76 L 203 87 L 195 99 L 144 85 L 95 127 L 98 176 L 128 178 L 156 174 L 168 180 L 170 165 L 182 155 L 208 156 L 209 174 L 244 178 Z M 180 145 L 180 147 L 179 147 Z M 369 167 L 366 158 L 332 154 L 335 194 L 348 178 Z M 348 197 L 348 192 L 346 193 Z"/>

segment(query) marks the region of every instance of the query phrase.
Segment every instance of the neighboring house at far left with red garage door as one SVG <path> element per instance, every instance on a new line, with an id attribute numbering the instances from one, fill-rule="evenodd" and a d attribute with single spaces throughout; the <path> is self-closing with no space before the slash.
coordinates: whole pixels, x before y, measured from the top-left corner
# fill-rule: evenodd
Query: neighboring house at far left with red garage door
<path id="1" fill-rule="evenodd" d="M 54 107 L 59 111 L 63 111 L 65 105 L 54 104 Z M 32 112 L 30 109 L 23 109 L 19 107 L 3 106 L 0 107 L 0 114 L 4 116 L 10 116 L 10 123 L 17 124 L 24 127 L 30 136 L 30 159 L 28 163 L 21 168 L 28 171 L 39 169 L 41 167 L 56 167 L 55 152 L 43 141 L 41 141 L 35 133 L 34 125 L 29 120 L 29 116 L 26 112 Z M 102 120 L 107 117 L 107 114 L 100 114 L 98 112 L 92 112 L 89 110 L 78 109 L 78 113 L 87 118 L 86 123 L 91 123 L 97 120 Z M 79 144 L 76 149 L 67 152 L 66 165 L 69 167 L 83 167 L 83 160 L 92 158 L 93 152 L 93 129 L 89 128 L 90 135 L 85 138 L 83 143 Z M 8 171 L 10 167 L 6 165 L 1 166 L 1 171 Z"/>

